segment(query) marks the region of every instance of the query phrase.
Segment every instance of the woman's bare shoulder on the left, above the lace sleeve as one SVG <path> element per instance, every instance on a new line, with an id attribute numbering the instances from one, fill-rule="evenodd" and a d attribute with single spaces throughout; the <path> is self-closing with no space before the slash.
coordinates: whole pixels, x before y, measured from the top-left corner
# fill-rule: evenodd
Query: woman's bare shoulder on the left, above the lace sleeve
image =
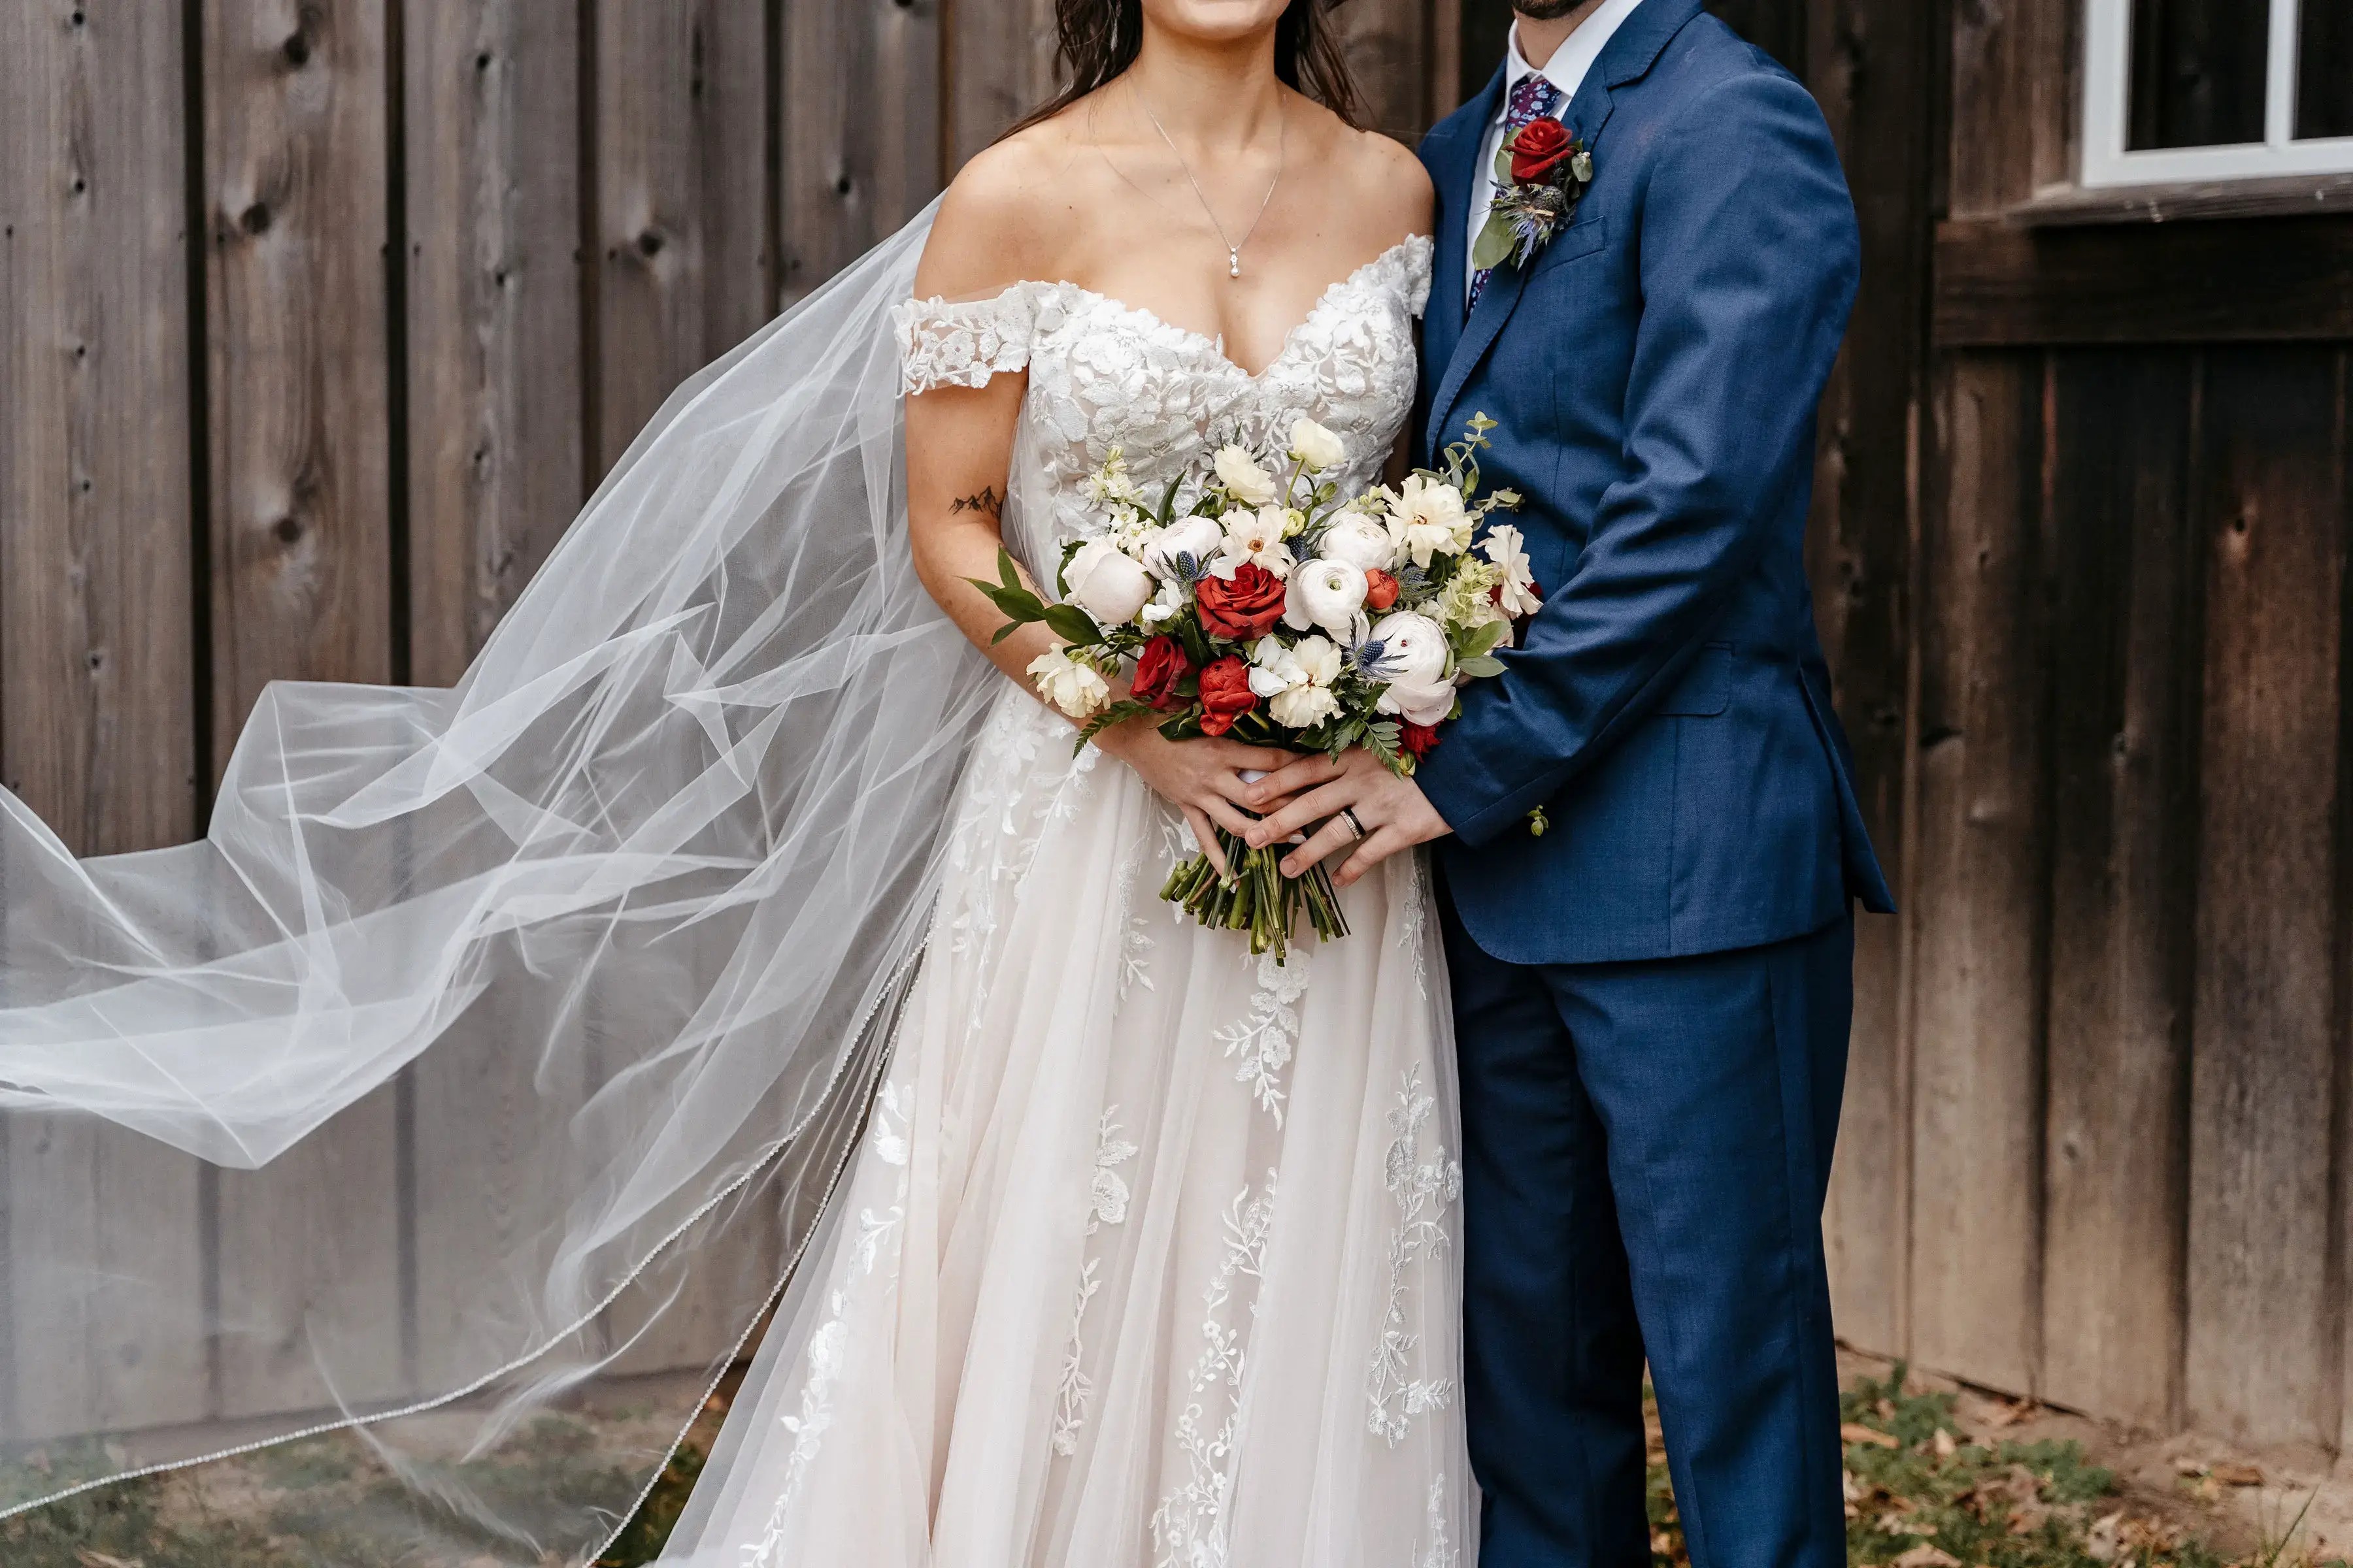
<path id="1" fill-rule="evenodd" d="M 925 242 L 915 292 L 974 299 L 1035 277 L 1059 277 L 1087 209 L 1085 148 L 1071 110 L 976 153 L 948 183 Z"/>

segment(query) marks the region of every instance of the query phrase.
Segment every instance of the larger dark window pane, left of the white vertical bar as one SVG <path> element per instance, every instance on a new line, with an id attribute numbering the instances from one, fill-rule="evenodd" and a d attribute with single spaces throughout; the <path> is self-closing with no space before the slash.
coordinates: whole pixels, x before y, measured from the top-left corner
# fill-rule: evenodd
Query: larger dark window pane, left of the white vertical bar
<path id="1" fill-rule="evenodd" d="M 2313 9 L 2346 0 L 2315 0 Z M 2264 139 L 2266 0 L 2132 0 L 2127 146 L 2205 148 Z"/>

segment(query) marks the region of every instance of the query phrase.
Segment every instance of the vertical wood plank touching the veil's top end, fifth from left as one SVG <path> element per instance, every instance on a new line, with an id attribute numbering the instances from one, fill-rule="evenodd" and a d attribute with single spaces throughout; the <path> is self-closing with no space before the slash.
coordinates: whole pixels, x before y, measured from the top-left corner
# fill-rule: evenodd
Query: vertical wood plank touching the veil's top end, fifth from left
<path id="1" fill-rule="evenodd" d="M 784 7 L 784 301 L 798 301 L 939 195 L 936 0 Z M 904 113 L 878 115 L 878 103 Z"/>

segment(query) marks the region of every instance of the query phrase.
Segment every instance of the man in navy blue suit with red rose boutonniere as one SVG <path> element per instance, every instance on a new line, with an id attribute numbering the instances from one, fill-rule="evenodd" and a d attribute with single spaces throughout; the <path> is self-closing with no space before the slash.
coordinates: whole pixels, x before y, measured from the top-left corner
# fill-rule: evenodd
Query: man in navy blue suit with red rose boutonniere
<path id="1" fill-rule="evenodd" d="M 1591 183 L 1480 270 L 1497 150 L 1539 120 Z M 1294 764 L 1261 799 L 1320 788 L 1259 835 L 1334 818 L 1287 867 L 1348 853 L 1344 882 L 1438 839 L 1482 1568 L 1647 1568 L 1645 1363 L 1694 1563 L 1840 1568 L 1821 1204 L 1849 907 L 1889 896 L 1802 567 L 1857 284 L 1838 153 L 1701 0 L 1518 0 L 1421 160 L 1419 456 L 1499 421 L 1546 604 L 1414 780 Z"/>

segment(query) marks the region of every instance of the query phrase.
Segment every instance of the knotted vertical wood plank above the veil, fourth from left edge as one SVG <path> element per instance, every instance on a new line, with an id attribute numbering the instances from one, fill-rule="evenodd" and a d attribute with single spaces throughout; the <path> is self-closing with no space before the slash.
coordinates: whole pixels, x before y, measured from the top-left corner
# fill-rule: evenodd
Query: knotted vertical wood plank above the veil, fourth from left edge
<path id="1" fill-rule="evenodd" d="M 602 473 L 769 317 L 767 7 L 595 0 Z"/>

